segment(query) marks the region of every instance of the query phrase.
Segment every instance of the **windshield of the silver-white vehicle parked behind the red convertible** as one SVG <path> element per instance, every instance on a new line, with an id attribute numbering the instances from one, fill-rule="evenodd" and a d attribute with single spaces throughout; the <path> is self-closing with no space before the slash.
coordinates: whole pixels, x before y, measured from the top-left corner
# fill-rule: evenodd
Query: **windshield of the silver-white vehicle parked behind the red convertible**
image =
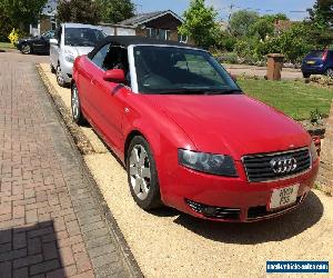
<path id="1" fill-rule="evenodd" d="M 94 47 L 105 36 L 101 30 L 91 28 L 65 28 L 64 44 L 74 47 Z"/>

